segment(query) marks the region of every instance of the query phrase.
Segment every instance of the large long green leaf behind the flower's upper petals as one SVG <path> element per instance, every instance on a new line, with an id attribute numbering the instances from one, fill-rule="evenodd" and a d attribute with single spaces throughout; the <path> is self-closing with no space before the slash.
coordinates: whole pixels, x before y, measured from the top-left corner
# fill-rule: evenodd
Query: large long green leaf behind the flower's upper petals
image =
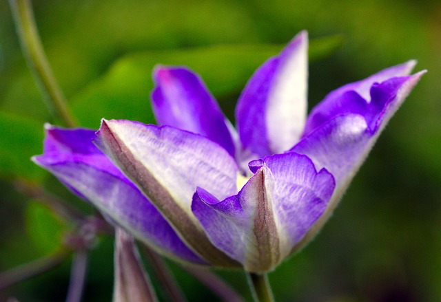
<path id="1" fill-rule="evenodd" d="M 341 40 L 340 36 L 331 36 L 312 41 L 310 61 L 334 52 L 341 45 Z M 99 127 L 101 118 L 152 123 L 154 116 L 149 102 L 155 65 L 186 65 L 194 69 L 201 74 L 214 96 L 220 99 L 238 94 L 256 68 L 278 54 L 284 46 L 216 45 L 128 54 L 116 61 L 104 76 L 72 98 L 72 109 L 81 125 L 94 129 Z"/>

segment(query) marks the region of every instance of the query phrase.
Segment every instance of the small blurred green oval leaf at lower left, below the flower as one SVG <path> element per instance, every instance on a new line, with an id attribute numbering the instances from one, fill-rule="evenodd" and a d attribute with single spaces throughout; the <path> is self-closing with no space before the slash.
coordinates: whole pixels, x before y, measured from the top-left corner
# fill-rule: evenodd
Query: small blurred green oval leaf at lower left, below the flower
<path id="1" fill-rule="evenodd" d="M 65 226 L 39 202 L 30 202 L 25 210 L 28 236 L 41 255 L 56 252 L 61 246 Z"/>

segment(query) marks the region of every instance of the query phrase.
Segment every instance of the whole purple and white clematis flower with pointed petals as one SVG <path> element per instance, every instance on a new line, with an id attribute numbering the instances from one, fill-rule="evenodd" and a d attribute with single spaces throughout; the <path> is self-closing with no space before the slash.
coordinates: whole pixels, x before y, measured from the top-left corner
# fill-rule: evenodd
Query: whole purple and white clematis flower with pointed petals
<path id="1" fill-rule="evenodd" d="M 34 161 L 112 223 L 185 262 L 273 270 L 334 211 L 424 72 L 409 61 L 332 91 L 307 116 L 307 33 L 257 69 L 225 118 L 203 80 L 158 66 L 160 126 L 46 126 Z M 162 125 L 162 126 L 161 126 Z"/>

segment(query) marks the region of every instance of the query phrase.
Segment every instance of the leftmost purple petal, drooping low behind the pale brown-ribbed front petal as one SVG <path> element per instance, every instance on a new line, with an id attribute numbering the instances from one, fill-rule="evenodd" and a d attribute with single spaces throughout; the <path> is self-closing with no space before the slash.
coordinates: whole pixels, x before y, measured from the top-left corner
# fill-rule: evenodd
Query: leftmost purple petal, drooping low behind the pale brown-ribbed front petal
<path id="1" fill-rule="evenodd" d="M 94 204 L 111 223 L 130 231 L 157 252 L 205 263 L 130 180 L 92 143 L 94 131 L 45 125 L 43 155 L 32 158 L 75 193 Z"/>

